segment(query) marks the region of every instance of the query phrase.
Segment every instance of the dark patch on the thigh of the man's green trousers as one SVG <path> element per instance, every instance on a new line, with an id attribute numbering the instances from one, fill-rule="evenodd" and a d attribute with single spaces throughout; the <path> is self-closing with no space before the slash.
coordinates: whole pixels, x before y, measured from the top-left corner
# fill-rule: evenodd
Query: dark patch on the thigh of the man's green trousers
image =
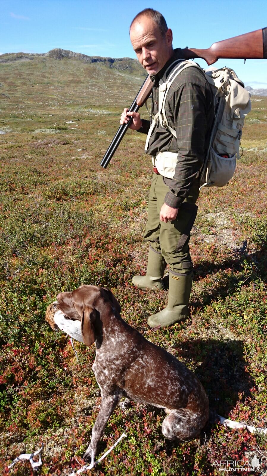
<path id="1" fill-rule="evenodd" d="M 181 251 L 185 243 L 189 240 L 190 232 L 198 213 L 198 206 L 193 203 L 183 202 L 178 210 L 174 223 L 181 236 L 176 246 L 176 251 Z"/>

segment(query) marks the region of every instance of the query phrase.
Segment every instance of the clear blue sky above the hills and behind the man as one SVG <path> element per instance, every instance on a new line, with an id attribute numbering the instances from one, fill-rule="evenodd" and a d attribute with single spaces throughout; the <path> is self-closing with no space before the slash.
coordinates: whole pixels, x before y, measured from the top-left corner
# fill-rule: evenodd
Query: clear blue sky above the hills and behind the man
<path id="1" fill-rule="evenodd" d="M 267 0 L 0 0 L 0 54 L 53 48 L 89 56 L 135 58 L 129 25 L 144 8 L 159 10 L 173 32 L 173 48 L 213 42 L 267 27 Z M 198 60 L 203 68 L 204 60 Z M 245 85 L 267 88 L 267 60 L 218 60 Z"/>

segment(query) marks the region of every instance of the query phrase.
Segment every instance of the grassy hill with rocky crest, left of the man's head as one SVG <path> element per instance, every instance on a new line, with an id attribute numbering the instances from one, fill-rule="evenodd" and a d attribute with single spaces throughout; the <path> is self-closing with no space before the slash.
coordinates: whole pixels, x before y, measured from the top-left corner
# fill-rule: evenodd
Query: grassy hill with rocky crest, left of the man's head
<path id="1" fill-rule="evenodd" d="M 19 109 L 15 113 L 24 115 L 30 115 L 36 103 L 44 114 L 85 106 L 121 109 L 131 104 L 145 76 L 131 58 L 90 57 L 57 48 L 0 56 L 2 99 L 7 111 Z"/>

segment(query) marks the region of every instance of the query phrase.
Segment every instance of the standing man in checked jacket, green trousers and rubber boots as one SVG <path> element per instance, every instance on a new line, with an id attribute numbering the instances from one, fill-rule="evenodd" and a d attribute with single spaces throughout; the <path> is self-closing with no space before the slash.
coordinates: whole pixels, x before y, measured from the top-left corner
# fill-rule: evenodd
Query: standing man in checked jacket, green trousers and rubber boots
<path id="1" fill-rule="evenodd" d="M 183 58 L 182 51 L 172 49 L 172 30 L 162 14 L 153 9 L 136 15 L 130 26 L 130 39 L 137 59 L 153 80 L 151 114 L 154 117 L 158 112 L 159 82 L 172 62 Z M 177 76 L 167 93 L 165 110 L 177 138 L 157 121 L 148 140 L 147 153 L 155 160 L 159 152 L 172 152 L 177 163 L 172 178 L 153 168 L 144 235 L 150 242 L 147 273 L 133 278 L 139 288 L 161 289 L 162 276 L 169 264 L 168 305 L 148 319 L 151 327 L 170 326 L 189 316 L 193 272 L 189 239 L 197 214 L 198 177 L 213 114 L 210 86 L 199 69 L 190 67 Z M 131 116 L 130 128 L 147 134 L 150 121 L 142 120 L 137 112 L 124 109 L 120 123 L 126 123 Z"/>

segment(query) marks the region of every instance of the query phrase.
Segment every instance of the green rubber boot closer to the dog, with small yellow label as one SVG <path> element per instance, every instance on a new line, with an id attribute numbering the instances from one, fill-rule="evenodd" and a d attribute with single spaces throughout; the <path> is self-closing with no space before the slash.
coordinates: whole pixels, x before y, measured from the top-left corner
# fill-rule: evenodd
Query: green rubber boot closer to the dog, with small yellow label
<path id="1" fill-rule="evenodd" d="M 162 311 L 149 317 L 150 327 L 172 326 L 175 322 L 185 320 L 189 316 L 189 298 L 192 288 L 192 275 L 177 276 L 170 272 L 168 306 Z"/>

